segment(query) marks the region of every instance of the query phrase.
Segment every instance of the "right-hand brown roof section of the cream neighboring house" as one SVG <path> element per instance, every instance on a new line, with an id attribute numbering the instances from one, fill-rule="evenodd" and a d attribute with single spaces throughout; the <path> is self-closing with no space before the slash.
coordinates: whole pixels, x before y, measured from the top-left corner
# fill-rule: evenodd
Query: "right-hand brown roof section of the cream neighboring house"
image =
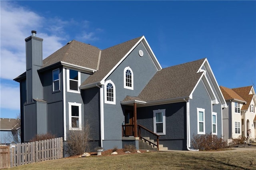
<path id="1" fill-rule="evenodd" d="M 250 91 L 252 90 L 252 86 L 247 86 L 247 87 L 238 87 L 232 89 L 235 91 L 238 95 L 240 95 L 245 101 L 248 103 L 248 105 L 243 105 L 241 110 L 248 110 L 250 107 L 250 103 L 253 99 L 253 94 L 250 95 Z"/>

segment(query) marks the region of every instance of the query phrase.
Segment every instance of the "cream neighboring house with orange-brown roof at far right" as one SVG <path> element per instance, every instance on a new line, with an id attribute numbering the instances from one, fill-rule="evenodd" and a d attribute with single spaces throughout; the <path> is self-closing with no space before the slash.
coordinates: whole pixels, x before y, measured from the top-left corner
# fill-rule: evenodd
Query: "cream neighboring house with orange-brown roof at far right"
<path id="1" fill-rule="evenodd" d="M 228 105 L 223 110 L 223 138 L 256 138 L 256 97 L 253 86 L 229 89 L 220 86 Z"/>

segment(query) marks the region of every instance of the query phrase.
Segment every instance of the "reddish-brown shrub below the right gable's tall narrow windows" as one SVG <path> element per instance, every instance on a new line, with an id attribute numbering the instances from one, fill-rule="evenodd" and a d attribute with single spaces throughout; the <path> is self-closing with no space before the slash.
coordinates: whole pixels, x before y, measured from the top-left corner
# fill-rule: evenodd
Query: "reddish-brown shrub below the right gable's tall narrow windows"
<path id="1" fill-rule="evenodd" d="M 227 141 L 216 135 L 212 135 L 212 133 L 193 135 L 191 144 L 194 149 L 199 150 L 220 150 L 228 147 Z"/>

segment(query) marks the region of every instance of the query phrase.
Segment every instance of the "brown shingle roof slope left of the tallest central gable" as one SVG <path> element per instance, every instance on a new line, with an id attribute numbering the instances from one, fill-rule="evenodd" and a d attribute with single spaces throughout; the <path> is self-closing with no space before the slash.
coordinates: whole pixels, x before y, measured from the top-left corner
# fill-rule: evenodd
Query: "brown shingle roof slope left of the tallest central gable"
<path id="1" fill-rule="evenodd" d="M 128 51 L 138 42 L 138 40 L 140 40 L 140 38 L 142 38 L 142 36 L 102 50 L 99 70 L 93 75 L 90 75 L 90 77 L 88 77 L 81 84 L 81 86 L 101 81 L 124 57 L 124 55 L 126 55 L 126 53 L 128 53 Z"/>

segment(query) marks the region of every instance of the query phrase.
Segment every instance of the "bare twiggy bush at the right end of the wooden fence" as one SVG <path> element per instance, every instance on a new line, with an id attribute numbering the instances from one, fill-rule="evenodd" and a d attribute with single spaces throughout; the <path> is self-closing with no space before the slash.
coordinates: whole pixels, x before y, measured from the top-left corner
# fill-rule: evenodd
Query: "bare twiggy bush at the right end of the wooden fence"
<path id="1" fill-rule="evenodd" d="M 86 150 L 90 150 L 90 127 L 86 123 L 82 130 L 69 130 L 67 132 L 67 141 L 65 152 L 69 156 L 83 154 Z"/>

